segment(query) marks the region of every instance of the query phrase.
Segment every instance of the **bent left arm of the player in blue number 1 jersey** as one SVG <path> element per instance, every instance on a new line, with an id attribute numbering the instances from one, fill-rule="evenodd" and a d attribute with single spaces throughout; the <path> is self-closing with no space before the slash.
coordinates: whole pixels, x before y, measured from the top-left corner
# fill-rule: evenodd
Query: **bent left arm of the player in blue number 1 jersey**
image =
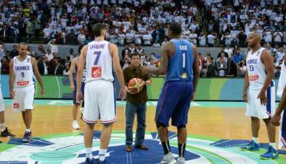
<path id="1" fill-rule="evenodd" d="M 169 61 L 169 47 L 174 46 L 172 42 L 167 42 L 161 46 L 160 54 L 161 54 L 161 65 L 159 68 L 143 68 L 144 73 L 151 73 L 151 74 L 166 74 L 168 70 L 168 61 Z"/>

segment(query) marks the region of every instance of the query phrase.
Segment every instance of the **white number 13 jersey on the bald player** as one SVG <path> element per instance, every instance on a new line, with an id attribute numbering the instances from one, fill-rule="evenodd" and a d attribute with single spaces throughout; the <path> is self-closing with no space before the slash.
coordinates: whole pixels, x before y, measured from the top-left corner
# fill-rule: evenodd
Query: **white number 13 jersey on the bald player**
<path id="1" fill-rule="evenodd" d="M 250 51 L 246 57 L 246 66 L 248 72 L 249 87 L 253 90 L 259 90 L 263 87 L 267 77 L 265 66 L 261 61 L 261 54 L 264 48 L 261 47 L 257 52 L 252 54 Z"/>

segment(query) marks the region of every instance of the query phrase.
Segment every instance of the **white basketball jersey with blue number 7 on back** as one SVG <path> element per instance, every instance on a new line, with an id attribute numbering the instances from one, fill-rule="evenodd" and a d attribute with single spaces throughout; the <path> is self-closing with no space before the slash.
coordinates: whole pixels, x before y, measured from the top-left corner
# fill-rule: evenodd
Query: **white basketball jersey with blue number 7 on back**
<path id="1" fill-rule="evenodd" d="M 112 55 L 105 40 L 88 43 L 86 83 L 94 80 L 114 81 Z"/>

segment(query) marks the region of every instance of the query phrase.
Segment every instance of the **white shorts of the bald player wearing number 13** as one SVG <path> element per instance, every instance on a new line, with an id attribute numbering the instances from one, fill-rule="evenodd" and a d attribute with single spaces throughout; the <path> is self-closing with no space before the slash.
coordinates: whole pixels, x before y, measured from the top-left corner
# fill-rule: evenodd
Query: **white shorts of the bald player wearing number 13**
<path id="1" fill-rule="evenodd" d="M 262 105 L 260 99 L 257 98 L 261 90 L 248 91 L 248 102 L 246 103 L 246 116 L 265 119 L 274 115 L 275 109 L 275 87 L 268 87 L 265 92 L 268 102 Z"/>

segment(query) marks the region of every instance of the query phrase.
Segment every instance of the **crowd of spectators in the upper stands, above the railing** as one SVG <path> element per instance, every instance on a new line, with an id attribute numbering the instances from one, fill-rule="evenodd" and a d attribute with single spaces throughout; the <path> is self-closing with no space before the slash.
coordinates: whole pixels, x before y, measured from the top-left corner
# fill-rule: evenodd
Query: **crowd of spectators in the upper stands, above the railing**
<path id="1" fill-rule="evenodd" d="M 106 23 L 107 40 L 122 46 L 160 46 L 172 22 L 181 23 L 183 36 L 198 46 L 246 46 L 252 32 L 265 43 L 286 42 L 284 0 L 3 0 L 0 12 L 5 42 L 34 36 L 44 43 L 86 43 L 96 22 Z"/>

